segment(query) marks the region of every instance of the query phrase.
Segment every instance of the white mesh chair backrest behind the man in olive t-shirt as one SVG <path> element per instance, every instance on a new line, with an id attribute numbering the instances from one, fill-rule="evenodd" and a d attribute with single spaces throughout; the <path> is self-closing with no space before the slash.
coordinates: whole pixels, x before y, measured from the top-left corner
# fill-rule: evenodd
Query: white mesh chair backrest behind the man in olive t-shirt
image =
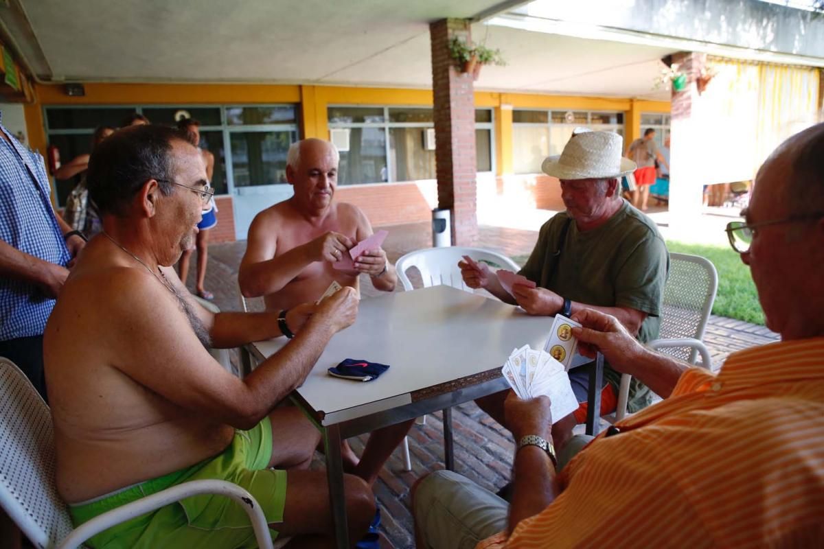
<path id="1" fill-rule="evenodd" d="M 718 279 L 718 272 L 708 259 L 697 255 L 670 254 L 670 271 L 664 286 L 658 337 L 703 340 Z M 692 363 L 695 363 L 697 354 L 690 347 L 672 347 L 661 351 Z"/>

